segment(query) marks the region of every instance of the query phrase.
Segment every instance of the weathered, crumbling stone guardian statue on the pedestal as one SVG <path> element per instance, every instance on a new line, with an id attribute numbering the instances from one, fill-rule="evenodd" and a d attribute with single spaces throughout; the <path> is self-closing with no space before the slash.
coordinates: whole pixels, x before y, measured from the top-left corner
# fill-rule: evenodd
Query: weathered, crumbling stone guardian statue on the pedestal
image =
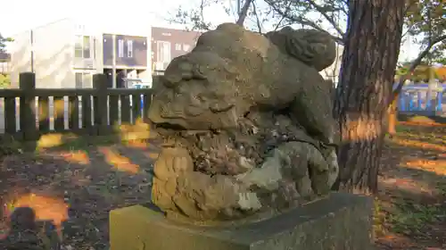
<path id="1" fill-rule="evenodd" d="M 198 39 L 153 87 L 164 139 L 153 202 L 175 218 L 234 221 L 325 196 L 338 174 L 323 32 L 266 36 L 232 23 Z"/>

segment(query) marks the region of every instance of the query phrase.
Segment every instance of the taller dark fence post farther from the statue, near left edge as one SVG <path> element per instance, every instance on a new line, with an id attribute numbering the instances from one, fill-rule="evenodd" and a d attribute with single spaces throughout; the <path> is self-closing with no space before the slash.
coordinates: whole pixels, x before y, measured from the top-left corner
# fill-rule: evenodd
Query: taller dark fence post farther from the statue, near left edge
<path id="1" fill-rule="evenodd" d="M 36 121 L 36 74 L 23 72 L 19 75 L 19 87 L 21 88 L 20 100 L 20 124 L 23 140 L 37 140 Z"/>

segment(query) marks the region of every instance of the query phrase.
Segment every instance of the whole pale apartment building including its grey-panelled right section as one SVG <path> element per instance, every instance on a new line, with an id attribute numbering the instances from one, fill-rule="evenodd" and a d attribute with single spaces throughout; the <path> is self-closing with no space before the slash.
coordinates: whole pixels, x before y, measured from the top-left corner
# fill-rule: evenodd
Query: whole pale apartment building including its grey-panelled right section
<path id="1" fill-rule="evenodd" d="M 109 86 L 120 79 L 152 79 L 150 26 L 103 25 L 63 19 L 12 36 L 11 78 L 36 73 L 36 87 L 92 87 L 92 75 L 106 73 Z"/>

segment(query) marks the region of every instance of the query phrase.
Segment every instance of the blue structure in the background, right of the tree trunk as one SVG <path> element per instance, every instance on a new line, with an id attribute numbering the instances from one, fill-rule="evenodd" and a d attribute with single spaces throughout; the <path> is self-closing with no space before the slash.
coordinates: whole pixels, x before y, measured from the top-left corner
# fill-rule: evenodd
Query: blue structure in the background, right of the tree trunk
<path id="1" fill-rule="evenodd" d="M 431 91 L 428 91 L 427 84 L 404 86 L 399 96 L 398 108 L 400 112 L 443 113 L 446 112 L 446 108 L 443 109 L 443 105 L 446 107 L 444 95 L 446 84 L 434 87 Z"/>

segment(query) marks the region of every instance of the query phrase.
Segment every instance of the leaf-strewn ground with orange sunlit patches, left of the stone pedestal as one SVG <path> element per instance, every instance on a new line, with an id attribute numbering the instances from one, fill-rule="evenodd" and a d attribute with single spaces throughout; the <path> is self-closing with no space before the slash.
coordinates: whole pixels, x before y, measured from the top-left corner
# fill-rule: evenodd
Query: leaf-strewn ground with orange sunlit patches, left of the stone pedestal
<path id="1" fill-rule="evenodd" d="M 41 221 L 54 224 L 55 238 L 62 246 L 108 249 L 108 213 L 150 201 L 157 154 L 150 142 L 84 142 L 6 156 L 0 168 L 4 244 L 13 237 L 8 234 L 13 231 L 12 212 L 29 207 L 39 225 Z M 54 237 L 40 238 L 58 244 Z"/>

